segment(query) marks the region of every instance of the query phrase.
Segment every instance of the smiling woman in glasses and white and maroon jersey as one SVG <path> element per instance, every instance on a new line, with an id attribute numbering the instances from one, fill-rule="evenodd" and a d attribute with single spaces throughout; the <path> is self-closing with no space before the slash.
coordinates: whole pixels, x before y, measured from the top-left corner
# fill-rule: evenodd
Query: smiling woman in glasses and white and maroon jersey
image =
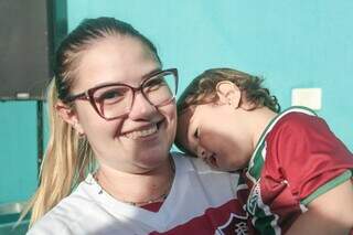
<path id="1" fill-rule="evenodd" d="M 131 25 L 79 24 L 56 54 L 29 234 L 246 233 L 238 175 L 169 153 L 176 86 L 176 70 L 162 70 Z"/>

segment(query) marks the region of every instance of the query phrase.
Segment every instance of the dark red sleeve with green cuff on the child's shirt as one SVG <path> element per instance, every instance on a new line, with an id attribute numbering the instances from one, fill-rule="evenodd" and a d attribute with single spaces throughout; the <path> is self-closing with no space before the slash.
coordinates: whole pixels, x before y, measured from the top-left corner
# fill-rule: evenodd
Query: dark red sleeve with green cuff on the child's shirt
<path id="1" fill-rule="evenodd" d="M 278 168 L 301 204 L 352 178 L 352 153 L 317 116 L 290 115 L 271 141 Z"/>

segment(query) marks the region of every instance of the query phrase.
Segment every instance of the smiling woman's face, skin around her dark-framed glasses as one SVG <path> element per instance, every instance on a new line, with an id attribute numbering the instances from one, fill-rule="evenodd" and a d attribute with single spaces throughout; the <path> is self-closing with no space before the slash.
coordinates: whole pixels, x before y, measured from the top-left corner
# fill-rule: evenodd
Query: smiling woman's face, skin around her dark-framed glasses
<path id="1" fill-rule="evenodd" d="M 77 66 L 72 94 L 92 87 L 124 83 L 138 87 L 161 65 L 137 39 L 109 36 L 85 50 Z M 125 117 L 105 120 L 87 100 L 75 102 L 76 129 L 82 128 L 100 164 L 129 173 L 158 168 L 168 158 L 176 128 L 174 100 L 156 108 L 137 92 Z"/>

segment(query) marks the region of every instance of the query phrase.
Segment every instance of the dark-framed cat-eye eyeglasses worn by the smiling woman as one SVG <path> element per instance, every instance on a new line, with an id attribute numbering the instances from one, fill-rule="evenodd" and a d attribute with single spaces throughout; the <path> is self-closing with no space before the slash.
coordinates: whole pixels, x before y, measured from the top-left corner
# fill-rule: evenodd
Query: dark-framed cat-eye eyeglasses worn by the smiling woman
<path id="1" fill-rule="evenodd" d="M 113 120 L 129 114 L 136 92 L 140 90 L 154 107 L 167 105 L 175 98 L 178 90 L 176 68 L 157 71 L 143 78 L 139 87 L 121 83 L 106 84 L 68 96 L 65 102 L 88 100 L 101 118 Z"/>

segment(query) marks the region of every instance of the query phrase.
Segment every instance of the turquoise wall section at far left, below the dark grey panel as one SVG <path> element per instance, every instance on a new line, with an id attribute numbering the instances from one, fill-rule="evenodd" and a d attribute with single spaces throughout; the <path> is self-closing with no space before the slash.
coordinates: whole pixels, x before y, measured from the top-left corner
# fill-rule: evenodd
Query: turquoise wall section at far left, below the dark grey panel
<path id="1" fill-rule="evenodd" d="M 38 184 L 35 102 L 0 102 L 0 204 L 26 201 Z"/>

